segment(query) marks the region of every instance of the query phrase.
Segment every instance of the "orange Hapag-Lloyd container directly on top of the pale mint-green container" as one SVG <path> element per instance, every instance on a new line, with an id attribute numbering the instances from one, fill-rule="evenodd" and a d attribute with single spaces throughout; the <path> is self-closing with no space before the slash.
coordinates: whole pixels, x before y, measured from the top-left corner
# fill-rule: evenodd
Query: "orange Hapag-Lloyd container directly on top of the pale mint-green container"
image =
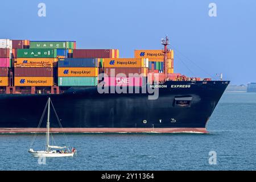
<path id="1" fill-rule="evenodd" d="M 96 77 L 98 68 L 58 68 L 59 77 Z"/>

